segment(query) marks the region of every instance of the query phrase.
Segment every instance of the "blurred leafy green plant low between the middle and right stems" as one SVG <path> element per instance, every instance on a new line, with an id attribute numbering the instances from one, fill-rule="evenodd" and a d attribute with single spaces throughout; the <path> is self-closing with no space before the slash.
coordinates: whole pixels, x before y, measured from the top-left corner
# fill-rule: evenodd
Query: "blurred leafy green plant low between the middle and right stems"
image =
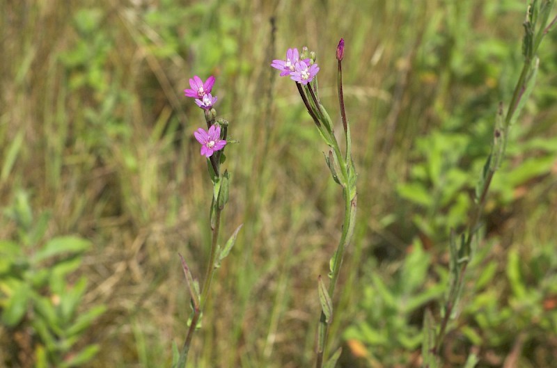
<path id="1" fill-rule="evenodd" d="M 404 352 L 418 349 L 422 340 L 418 316 L 445 288 L 446 273 L 439 273 L 435 281 L 431 267 L 431 256 L 416 242 L 394 273 L 370 275 L 359 305 L 365 317 L 346 330 L 345 339 L 363 342 L 370 355 L 386 366 L 408 364 Z"/>

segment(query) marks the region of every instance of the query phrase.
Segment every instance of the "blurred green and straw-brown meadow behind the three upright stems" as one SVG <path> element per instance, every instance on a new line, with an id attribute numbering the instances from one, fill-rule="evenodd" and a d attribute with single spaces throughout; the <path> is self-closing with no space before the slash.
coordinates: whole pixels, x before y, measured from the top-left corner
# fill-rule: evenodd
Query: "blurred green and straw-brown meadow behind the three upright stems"
<path id="1" fill-rule="evenodd" d="M 183 96 L 194 75 L 216 77 L 217 113 L 240 142 L 227 148 L 221 233 L 244 227 L 189 367 L 312 366 L 317 275 L 343 214 L 327 148 L 293 82 L 269 65 L 288 47 L 316 51 L 340 131 L 343 37 L 359 209 L 331 348 L 343 346 L 340 367 L 419 367 L 450 229 L 466 223 L 497 106 L 518 78 L 525 10 L 521 0 L 1 1 L 0 366 L 169 366 L 190 311 L 178 252 L 201 278 L 210 244 L 210 180 L 193 137 L 205 122 Z M 446 367 L 469 351 L 478 367 L 555 367 L 556 41 L 544 40 L 494 179 Z"/>

